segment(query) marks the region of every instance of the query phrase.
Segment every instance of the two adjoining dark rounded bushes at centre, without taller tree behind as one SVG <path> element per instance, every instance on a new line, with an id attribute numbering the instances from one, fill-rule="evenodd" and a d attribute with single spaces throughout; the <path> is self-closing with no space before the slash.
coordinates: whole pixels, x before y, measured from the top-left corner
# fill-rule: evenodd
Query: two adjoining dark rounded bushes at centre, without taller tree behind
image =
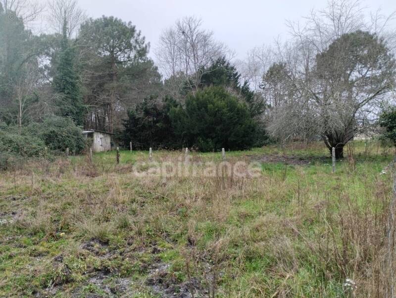
<path id="1" fill-rule="evenodd" d="M 128 112 L 121 140 L 135 149 L 247 149 L 262 140 L 247 104 L 223 87 L 191 93 L 183 107 L 171 98 L 145 99 Z"/>

